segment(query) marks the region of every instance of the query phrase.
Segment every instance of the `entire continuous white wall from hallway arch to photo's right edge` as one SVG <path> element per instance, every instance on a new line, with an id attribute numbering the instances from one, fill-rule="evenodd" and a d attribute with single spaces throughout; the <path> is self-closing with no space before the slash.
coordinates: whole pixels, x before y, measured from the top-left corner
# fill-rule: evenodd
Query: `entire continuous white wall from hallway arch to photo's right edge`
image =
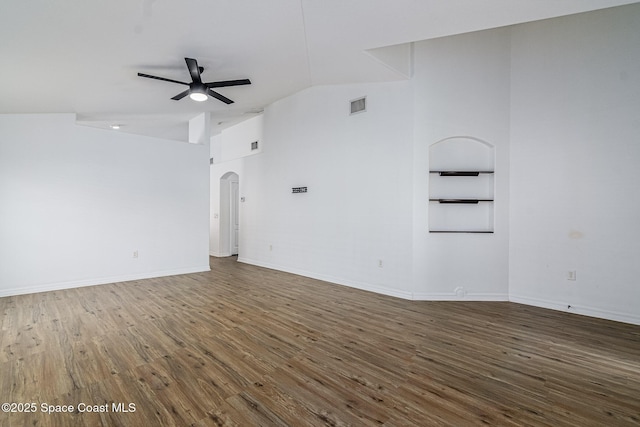
<path id="1" fill-rule="evenodd" d="M 268 106 L 262 154 L 212 169 L 240 171 L 240 260 L 640 324 L 639 21 L 631 5 L 417 42 L 411 81 Z M 495 148 L 493 234 L 428 233 L 429 146 L 452 136 Z"/>

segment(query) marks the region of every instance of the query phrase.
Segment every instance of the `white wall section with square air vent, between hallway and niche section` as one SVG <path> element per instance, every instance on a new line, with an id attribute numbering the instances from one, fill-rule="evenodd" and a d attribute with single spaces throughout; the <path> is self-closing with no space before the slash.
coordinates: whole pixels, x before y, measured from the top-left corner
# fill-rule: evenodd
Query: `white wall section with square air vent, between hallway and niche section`
<path id="1" fill-rule="evenodd" d="M 314 87 L 267 107 L 240 176 L 241 261 L 410 296 L 410 89 Z M 367 112 L 350 116 L 361 96 Z"/>

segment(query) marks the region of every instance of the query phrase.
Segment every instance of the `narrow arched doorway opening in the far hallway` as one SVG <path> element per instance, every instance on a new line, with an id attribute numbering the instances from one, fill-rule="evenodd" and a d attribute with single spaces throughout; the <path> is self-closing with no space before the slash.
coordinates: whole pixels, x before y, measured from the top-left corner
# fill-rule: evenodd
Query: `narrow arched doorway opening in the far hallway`
<path id="1" fill-rule="evenodd" d="M 240 233 L 240 177 L 227 172 L 220 177 L 220 253 L 236 255 Z"/>

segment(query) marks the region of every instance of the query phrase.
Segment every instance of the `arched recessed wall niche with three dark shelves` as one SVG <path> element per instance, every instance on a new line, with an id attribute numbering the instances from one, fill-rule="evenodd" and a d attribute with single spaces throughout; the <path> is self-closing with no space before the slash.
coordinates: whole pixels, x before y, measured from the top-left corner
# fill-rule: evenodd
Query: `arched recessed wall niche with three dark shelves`
<path id="1" fill-rule="evenodd" d="M 493 233 L 495 147 L 454 136 L 429 147 L 429 232 Z"/>

